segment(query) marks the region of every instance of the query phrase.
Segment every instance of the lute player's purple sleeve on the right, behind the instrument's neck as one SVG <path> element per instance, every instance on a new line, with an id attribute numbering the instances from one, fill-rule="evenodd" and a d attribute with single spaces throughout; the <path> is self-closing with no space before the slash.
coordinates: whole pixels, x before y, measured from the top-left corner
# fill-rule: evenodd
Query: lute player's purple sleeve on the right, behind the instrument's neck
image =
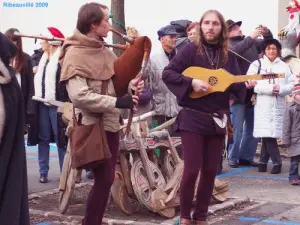
<path id="1" fill-rule="evenodd" d="M 241 70 L 239 67 L 239 64 L 237 62 L 236 56 L 234 55 L 228 55 L 229 57 L 232 57 L 230 60 L 230 73 L 233 75 L 241 75 Z M 233 94 L 236 98 L 238 98 L 240 101 L 244 102 L 246 97 L 246 85 L 245 83 L 234 83 L 230 86 L 229 92 L 230 94 Z"/>

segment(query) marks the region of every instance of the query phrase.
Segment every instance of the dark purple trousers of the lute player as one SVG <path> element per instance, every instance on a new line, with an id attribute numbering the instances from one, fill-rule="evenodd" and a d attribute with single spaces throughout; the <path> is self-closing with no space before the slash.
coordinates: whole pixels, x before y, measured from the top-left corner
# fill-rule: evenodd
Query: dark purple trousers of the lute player
<path id="1" fill-rule="evenodd" d="M 196 179 L 201 169 L 196 207 L 192 218 L 206 220 L 214 180 L 224 147 L 224 135 L 202 136 L 181 131 L 184 170 L 180 185 L 181 218 L 191 219 Z"/>

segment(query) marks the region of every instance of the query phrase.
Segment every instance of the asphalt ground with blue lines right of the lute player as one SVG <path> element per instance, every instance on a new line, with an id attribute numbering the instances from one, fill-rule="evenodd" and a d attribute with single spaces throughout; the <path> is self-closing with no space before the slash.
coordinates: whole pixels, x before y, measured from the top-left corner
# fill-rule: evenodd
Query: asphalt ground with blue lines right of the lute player
<path id="1" fill-rule="evenodd" d="M 232 210 L 211 221 L 212 225 L 300 225 L 300 186 L 288 183 L 289 160 L 283 160 L 282 173 L 259 173 L 254 167 L 225 169 L 219 179 L 230 182 L 229 196 L 249 197 L 251 206 Z"/>

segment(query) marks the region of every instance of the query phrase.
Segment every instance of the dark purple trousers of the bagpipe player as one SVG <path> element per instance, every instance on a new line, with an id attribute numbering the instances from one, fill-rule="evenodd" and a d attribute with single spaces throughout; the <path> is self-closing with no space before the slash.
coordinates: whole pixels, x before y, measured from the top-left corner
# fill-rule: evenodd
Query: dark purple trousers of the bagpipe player
<path id="1" fill-rule="evenodd" d="M 89 193 L 84 225 L 100 225 L 109 197 L 110 187 L 115 178 L 115 167 L 119 150 L 119 132 L 106 132 L 112 157 L 93 169 L 94 185 Z"/>

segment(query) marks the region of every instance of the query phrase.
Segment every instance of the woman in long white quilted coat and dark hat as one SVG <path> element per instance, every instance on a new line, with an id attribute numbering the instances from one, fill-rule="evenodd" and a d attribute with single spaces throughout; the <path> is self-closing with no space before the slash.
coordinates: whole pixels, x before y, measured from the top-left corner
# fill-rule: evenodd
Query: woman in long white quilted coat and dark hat
<path id="1" fill-rule="evenodd" d="M 282 136 L 282 124 L 285 111 L 285 96 L 294 86 L 294 79 L 289 66 L 280 59 L 281 44 L 276 39 L 267 39 L 262 45 L 263 56 L 254 61 L 247 74 L 284 73 L 285 78 L 259 80 L 254 87 L 256 101 L 254 106 L 253 136 L 262 139 L 262 149 L 258 171 L 266 172 L 271 158 L 271 174 L 281 173 L 281 157 L 277 138 Z"/>

